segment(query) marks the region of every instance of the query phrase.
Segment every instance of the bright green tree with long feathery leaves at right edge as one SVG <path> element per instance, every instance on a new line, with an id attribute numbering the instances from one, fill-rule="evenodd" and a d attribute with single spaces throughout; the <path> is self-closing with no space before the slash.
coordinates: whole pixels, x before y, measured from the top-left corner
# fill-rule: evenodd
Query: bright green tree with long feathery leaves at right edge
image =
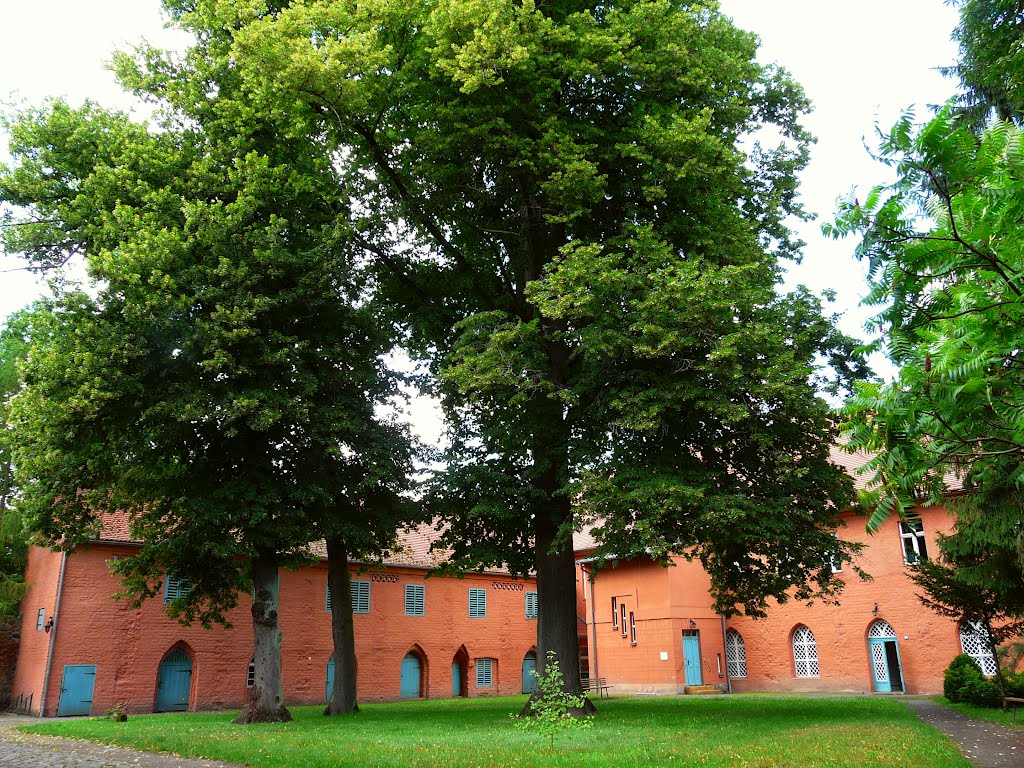
<path id="1" fill-rule="evenodd" d="M 950 109 L 904 117 L 881 158 L 897 171 L 830 231 L 862 238 L 868 301 L 900 367 L 847 404 L 850 447 L 874 453 L 869 527 L 925 503 L 951 506 L 943 542 L 968 586 L 1024 609 L 1024 210 L 1022 132 L 981 135 Z M 969 564 L 967 566 L 966 564 Z M 963 567 L 962 567 L 963 566 Z"/>

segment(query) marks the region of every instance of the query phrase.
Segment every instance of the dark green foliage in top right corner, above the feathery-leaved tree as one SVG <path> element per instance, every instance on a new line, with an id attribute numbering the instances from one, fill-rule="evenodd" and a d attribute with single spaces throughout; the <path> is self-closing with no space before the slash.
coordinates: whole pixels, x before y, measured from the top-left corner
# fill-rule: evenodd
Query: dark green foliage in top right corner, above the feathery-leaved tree
<path id="1" fill-rule="evenodd" d="M 1024 123 L 1024 0 L 947 0 L 959 8 L 959 60 L 942 70 L 964 87 L 957 106 L 980 130 L 992 117 Z"/>

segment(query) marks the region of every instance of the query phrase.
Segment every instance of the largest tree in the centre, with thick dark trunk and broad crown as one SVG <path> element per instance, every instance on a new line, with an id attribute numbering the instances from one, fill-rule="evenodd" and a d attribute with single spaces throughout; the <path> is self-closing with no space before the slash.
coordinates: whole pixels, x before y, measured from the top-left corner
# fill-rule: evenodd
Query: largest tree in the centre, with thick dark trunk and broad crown
<path id="1" fill-rule="evenodd" d="M 851 486 L 810 379 L 850 345 L 775 295 L 807 103 L 755 37 L 714 2 L 281 5 L 180 9 L 233 31 L 264 111 L 344 153 L 453 425 L 431 504 L 454 563 L 536 571 L 565 688 L 583 518 L 618 554 L 699 557 L 723 610 L 831 595 Z M 744 154 L 762 128 L 779 145 Z"/>

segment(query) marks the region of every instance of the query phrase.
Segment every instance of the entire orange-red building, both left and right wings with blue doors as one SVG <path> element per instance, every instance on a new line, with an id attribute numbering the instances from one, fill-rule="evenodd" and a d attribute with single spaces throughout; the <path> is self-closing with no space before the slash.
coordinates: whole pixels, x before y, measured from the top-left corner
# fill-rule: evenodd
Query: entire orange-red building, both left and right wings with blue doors
<path id="1" fill-rule="evenodd" d="M 837 453 L 851 470 L 855 457 Z M 251 682 L 248 600 L 234 629 L 182 627 L 157 599 L 131 609 L 112 599 L 109 561 L 130 553 L 123 521 L 69 554 L 33 548 L 13 686 L 14 709 L 52 716 L 240 708 Z M 575 539 L 583 672 L 614 693 L 702 690 L 937 693 L 942 671 L 964 651 L 987 672 L 993 659 L 972 627 L 921 605 L 906 563 L 937 552 L 951 527 L 945 509 L 921 508 L 868 536 L 848 517 L 838 535 L 865 545 L 843 572 L 839 605 L 775 604 L 766 618 L 724 620 L 712 608 L 698 563 L 646 560 L 596 574 Z M 357 684 L 364 700 L 510 694 L 531 684 L 537 588 L 502 572 L 431 577 L 433 531 L 402 537 L 382 568 L 353 568 Z M 186 578 L 187 574 L 182 574 Z M 173 594 L 181 582 L 170 579 Z M 289 705 L 319 703 L 333 684 L 326 563 L 281 572 L 283 676 Z"/>

